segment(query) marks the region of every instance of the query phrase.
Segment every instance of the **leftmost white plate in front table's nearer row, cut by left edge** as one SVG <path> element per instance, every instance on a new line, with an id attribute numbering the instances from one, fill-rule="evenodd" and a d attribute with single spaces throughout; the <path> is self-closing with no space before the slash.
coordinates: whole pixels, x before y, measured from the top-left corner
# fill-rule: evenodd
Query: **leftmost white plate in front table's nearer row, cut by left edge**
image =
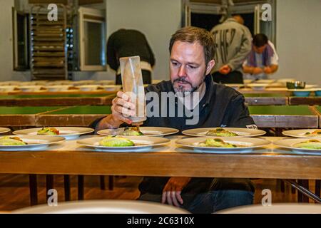
<path id="1" fill-rule="evenodd" d="M 21 150 L 43 150 L 51 144 L 63 142 L 65 138 L 57 136 L 44 135 L 4 135 L 10 137 L 19 137 L 29 145 L 0 145 L 0 151 L 21 151 Z M 4 137 L 1 136 L 1 137 Z M 1 138 L 0 137 L 0 138 Z"/>

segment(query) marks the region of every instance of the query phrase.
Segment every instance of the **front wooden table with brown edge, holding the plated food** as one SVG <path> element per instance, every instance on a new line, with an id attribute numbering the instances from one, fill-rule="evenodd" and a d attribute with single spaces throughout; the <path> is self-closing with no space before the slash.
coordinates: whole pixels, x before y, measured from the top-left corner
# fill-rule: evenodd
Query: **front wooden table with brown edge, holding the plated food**
<path id="1" fill-rule="evenodd" d="M 321 155 L 298 155 L 273 145 L 246 154 L 198 153 L 176 147 L 182 137 L 168 137 L 170 144 L 151 152 L 96 152 L 76 140 L 48 150 L 0 152 L 0 173 L 321 179 Z"/>

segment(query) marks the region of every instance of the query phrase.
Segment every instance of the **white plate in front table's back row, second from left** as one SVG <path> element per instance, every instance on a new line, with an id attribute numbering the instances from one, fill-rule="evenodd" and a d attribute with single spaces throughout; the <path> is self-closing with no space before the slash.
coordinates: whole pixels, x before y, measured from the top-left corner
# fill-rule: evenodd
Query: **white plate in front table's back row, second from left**
<path id="1" fill-rule="evenodd" d="M 72 127 L 51 127 L 59 130 L 59 135 L 51 135 L 51 136 L 61 136 L 66 138 L 66 140 L 74 140 L 78 138 L 80 135 L 92 133 L 94 130 L 92 128 L 72 128 Z M 24 130 L 16 130 L 14 131 L 14 135 L 37 135 L 38 130 L 42 128 L 29 128 Z"/>

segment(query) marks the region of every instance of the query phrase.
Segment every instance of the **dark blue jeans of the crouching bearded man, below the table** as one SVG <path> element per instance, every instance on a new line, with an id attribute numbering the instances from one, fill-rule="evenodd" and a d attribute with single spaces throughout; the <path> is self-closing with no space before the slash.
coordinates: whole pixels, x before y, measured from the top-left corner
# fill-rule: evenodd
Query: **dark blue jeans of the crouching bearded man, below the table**
<path id="1" fill-rule="evenodd" d="M 206 189 L 206 187 L 205 187 Z M 220 209 L 253 204 L 254 187 L 248 179 L 215 178 L 205 192 L 182 194 L 183 209 L 209 214 Z M 161 202 L 162 195 L 146 193 L 139 200 Z"/>

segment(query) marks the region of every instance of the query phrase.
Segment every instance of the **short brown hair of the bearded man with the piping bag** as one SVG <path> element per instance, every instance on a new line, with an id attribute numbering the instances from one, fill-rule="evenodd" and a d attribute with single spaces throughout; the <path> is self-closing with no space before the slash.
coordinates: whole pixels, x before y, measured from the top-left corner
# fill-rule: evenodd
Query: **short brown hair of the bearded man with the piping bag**
<path id="1" fill-rule="evenodd" d="M 194 43 L 195 41 L 198 41 L 200 45 L 203 46 L 206 65 L 208 65 L 208 63 L 214 58 L 214 39 L 212 34 L 204 28 L 198 28 L 193 26 L 180 28 L 170 38 L 170 53 L 172 53 L 172 48 L 175 41 L 182 41 L 188 43 Z"/>

